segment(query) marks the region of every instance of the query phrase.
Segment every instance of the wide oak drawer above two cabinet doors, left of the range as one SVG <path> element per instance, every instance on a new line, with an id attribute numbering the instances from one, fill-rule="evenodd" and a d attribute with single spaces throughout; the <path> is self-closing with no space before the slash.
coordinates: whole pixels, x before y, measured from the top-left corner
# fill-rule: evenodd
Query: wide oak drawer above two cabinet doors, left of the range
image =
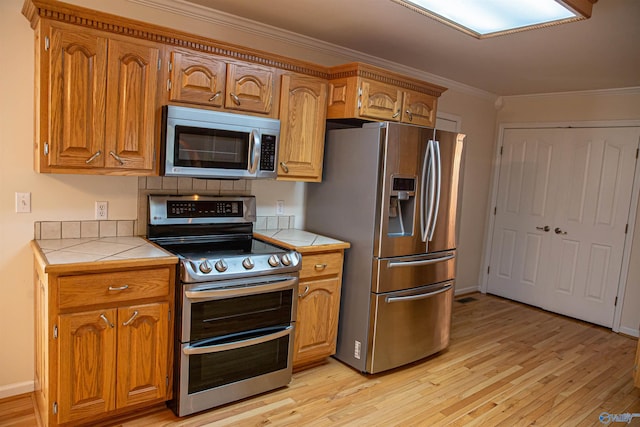
<path id="1" fill-rule="evenodd" d="M 169 295 L 166 268 L 63 276 L 58 279 L 58 306 L 79 307 Z"/>

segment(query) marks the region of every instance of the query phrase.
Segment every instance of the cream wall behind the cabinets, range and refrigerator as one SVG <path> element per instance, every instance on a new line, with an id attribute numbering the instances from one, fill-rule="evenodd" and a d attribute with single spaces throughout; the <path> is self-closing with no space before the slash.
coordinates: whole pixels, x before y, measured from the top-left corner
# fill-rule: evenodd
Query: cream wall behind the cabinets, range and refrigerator
<path id="1" fill-rule="evenodd" d="M 300 37 L 289 42 L 257 30 L 243 31 L 171 15 L 128 0 L 67 2 L 323 65 L 366 59 L 375 62 L 375 58 L 337 47 L 313 49 L 301 43 Z M 33 261 L 29 242 L 34 221 L 93 219 L 96 200 L 109 201 L 109 219 L 137 216 L 135 177 L 33 172 L 34 35 L 21 15 L 22 5 L 23 0 L 0 2 L 0 54 L 5 59 L 0 79 L 0 342 L 5 343 L 0 350 L 0 398 L 32 387 Z M 456 86 L 455 82 L 447 84 L 445 79 L 436 79 L 434 83 Z M 444 93 L 439 108 L 460 116 L 462 131 L 467 134 L 458 286 L 477 289 L 495 141 L 493 97 L 459 85 Z M 276 200 L 285 200 L 285 214 L 295 215 L 296 226 L 303 227 L 304 189 L 305 184 L 301 183 L 253 182 L 258 215 L 273 215 Z M 30 214 L 14 212 L 15 192 L 32 193 Z"/>

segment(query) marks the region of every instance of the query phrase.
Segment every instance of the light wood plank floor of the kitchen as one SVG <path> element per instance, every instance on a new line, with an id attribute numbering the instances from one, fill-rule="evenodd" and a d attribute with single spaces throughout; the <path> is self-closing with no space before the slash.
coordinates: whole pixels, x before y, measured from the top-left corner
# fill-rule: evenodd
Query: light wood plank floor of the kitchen
<path id="1" fill-rule="evenodd" d="M 363 376 L 330 359 L 275 392 L 191 417 L 163 409 L 118 425 L 600 426 L 602 412 L 640 413 L 631 378 L 635 339 L 472 297 L 454 302 L 449 348 L 420 363 Z M 0 426 L 32 425 L 31 395 L 0 402 Z"/>

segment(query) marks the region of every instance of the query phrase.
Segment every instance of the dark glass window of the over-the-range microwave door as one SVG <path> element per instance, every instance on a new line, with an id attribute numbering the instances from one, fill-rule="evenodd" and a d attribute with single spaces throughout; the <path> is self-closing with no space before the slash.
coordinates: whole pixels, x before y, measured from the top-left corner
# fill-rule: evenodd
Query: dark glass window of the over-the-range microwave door
<path id="1" fill-rule="evenodd" d="M 192 126 L 175 127 L 176 166 L 246 169 L 249 133 Z"/>

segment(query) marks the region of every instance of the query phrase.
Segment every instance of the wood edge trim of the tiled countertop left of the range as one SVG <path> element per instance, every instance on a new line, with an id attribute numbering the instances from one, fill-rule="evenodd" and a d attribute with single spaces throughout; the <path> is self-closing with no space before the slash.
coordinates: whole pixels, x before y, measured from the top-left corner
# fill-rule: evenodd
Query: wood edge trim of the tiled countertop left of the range
<path id="1" fill-rule="evenodd" d="M 145 239 L 146 240 L 146 239 Z M 98 261 L 82 261 L 71 262 L 64 264 L 52 264 L 47 260 L 45 253 L 36 240 L 32 240 L 31 248 L 36 258 L 36 262 L 40 265 L 40 268 L 44 273 L 68 273 L 74 271 L 91 272 L 101 270 L 113 270 L 113 269 L 128 269 L 128 268 L 140 268 L 140 267 L 153 267 L 162 265 L 176 265 L 178 264 L 178 257 L 167 252 L 161 247 L 155 245 L 153 242 L 147 241 L 154 247 L 162 250 L 166 253 L 166 256 L 159 257 L 141 257 L 130 259 L 110 259 L 110 260 L 98 260 Z"/>

